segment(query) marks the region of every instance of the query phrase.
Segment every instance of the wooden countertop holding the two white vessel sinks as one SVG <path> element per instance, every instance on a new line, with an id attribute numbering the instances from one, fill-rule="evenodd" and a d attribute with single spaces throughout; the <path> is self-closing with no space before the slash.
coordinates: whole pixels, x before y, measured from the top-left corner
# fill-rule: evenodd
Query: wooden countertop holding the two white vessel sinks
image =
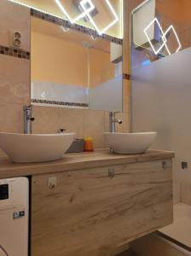
<path id="1" fill-rule="evenodd" d="M 101 166 L 171 159 L 173 152 L 148 150 L 145 154 L 110 154 L 108 149 L 93 153 L 65 154 L 61 160 L 45 163 L 12 163 L 8 156 L 0 153 L 0 178 L 31 176 L 43 173 L 66 172 Z"/>

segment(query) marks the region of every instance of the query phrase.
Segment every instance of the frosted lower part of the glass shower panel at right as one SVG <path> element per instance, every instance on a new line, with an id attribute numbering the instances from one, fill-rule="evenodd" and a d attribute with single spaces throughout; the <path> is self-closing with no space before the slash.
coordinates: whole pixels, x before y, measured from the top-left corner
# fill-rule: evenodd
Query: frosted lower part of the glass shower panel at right
<path id="1" fill-rule="evenodd" d="M 191 48 L 132 70 L 132 131 L 157 131 L 153 148 L 176 153 L 177 183 L 191 183 Z"/>

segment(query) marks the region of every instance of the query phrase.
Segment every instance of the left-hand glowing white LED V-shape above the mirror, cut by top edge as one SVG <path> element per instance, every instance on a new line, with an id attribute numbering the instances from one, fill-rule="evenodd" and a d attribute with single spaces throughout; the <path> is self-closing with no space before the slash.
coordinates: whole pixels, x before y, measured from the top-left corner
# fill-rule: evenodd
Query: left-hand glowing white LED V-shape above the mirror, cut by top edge
<path id="1" fill-rule="evenodd" d="M 61 3 L 60 0 L 55 0 L 55 3 L 57 3 L 58 7 L 61 9 L 62 14 L 67 16 L 67 19 L 73 24 L 75 22 L 77 22 L 80 19 L 83 19 L 86 15 L 88 15 L 92 10 L 95 9 L 95 6 L 93 3 L 90 3 L 88 5 L 88 8 L 84 10 L 84 12 L 80 15 L 78 15 L 77 17 L 75 17 L 74 19 L 71 18 L 71 16 L 67 13 L 67 10 L 65 9 L 64 5 Z"/>

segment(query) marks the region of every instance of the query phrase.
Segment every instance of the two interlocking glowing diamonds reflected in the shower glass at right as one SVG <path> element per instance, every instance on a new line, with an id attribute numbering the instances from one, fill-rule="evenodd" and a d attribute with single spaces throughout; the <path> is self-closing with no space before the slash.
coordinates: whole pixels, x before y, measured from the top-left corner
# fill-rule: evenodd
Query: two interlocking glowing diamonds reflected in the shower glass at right
<path id="1" fill-rule="evenodd" d="M 154 26 L 154 23 L 157 23 L 157 26 L 159 26 L 159 32 L 161 33 L 161 39 L 162 39 L 162 42 L 163 42 L 163 44 L 160 45 L 159 49 L 155 49 L 155 47 L 154 47 L 154 45 L 153 45 L 151 39 L 150 39 L 149 36 L 148 36 L 148 29 L 149 29 L 151 26 Z M 160 52 L 160 50 L 163 49 L 164 47 L 165 47 L 165 49 L 167 50 L 168 54 L 171 55 L 171 51 L 170 51 L 170 49 L 169 49 L 168 46 L 167 46 L 168 40 L 167 40 L 167 38 L 166 38 L 166 35 L 167 35 L 171 30 L 172 30 L 172 32 L 174 32 L 175 37 L 177 38 L 178 47 L 177 47 L 176 52 L 178 52 L 178 51 L 182 48 L 182 45 L 181 45 L 180 40 L 179 40 L 179 38 L 178 38 L 178 36 L 177 36 L 177 32 L 176 32 L 174 26 L 172 26 L 172 25 L 169 26 L 168 29 L 164 32 L 163 29 L 162 29 L 162 27 L 161 27 L 160 24 L 159 24 L 159 20 L 158 20 L 157 18 L 154 18 L 154 19 L 148 24 L 148 26 L 143 30 L 144 33 L 145 33 L 145 35 L 146 35 L 146 37 L 148 38 L 148 43 L 150 44 L 151 48 L 153 49 L 153 52 L 154 52 L 155 55 L 158 55 L 159 52 Z"/>

